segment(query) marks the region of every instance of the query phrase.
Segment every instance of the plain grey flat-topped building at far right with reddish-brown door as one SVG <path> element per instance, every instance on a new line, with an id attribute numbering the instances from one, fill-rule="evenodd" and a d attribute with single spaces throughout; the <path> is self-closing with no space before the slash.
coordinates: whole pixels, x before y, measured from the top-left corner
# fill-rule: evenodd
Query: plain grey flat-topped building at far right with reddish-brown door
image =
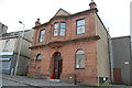
<path id="1" fill-rule="evenodd" d="M 132 85 L 131 37 L 111 38 L 110 50 L 112 82 Z"/>

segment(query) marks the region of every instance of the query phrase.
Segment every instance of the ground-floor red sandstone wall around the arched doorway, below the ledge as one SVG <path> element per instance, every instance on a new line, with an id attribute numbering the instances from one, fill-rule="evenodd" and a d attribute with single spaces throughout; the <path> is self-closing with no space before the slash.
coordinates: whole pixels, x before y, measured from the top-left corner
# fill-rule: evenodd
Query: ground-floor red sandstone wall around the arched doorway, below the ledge
<path id="1" fill-rule="evenodd" d="M 37 54 L 42 54 L 42 61 L 35 62 L 35 67 L 32 74 L 38 74 L 38 67 L 41 68 L 40 74 L 51 74 L 51 61 L 55 52 L 59 52 L 63 58 L 63 72 L 61 79 L 65 81 L 74 82 L 74 76 L 77 75 L 76 79 L 80 84 L 97 84 L 97 53 L 96 53 L 97 41 L 81 41 L 66 43 L 59 48 L 52 48 L 50 46 L 38 47 L 32 52 L 33 59 L 36 59 Z M 86 68 L 75 69 L 75 53 L 77 50 L 82 48 L 86 54 Z M 31 70 L 31 69 L 30 69 Z M 72 77 L 72 78 L 70 78 Z"/>

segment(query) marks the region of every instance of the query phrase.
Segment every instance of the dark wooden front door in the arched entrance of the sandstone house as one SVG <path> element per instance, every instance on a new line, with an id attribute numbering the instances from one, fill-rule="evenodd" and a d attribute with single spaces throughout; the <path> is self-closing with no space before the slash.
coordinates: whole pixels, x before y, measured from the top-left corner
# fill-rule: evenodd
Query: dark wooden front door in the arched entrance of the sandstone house
<path id="1" fill-rule="evenodd" d="M 53 69 L 54 79 L 59 79 L 62 73 L 62 64 L 63 64 L 63 59 L 61 53 L 57 52 L 54 54 L 54 69 Z"/>

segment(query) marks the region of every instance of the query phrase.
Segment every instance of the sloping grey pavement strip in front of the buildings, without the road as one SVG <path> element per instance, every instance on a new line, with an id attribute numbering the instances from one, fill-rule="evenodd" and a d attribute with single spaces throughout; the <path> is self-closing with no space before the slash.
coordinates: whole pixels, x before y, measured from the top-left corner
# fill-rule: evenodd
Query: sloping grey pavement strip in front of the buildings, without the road
<path id="1" fill-rule="evenodd" d="M 132 88 L 132 86 L 125 85 L 111 85 L 109 87 L 88 87 L 88 86 L 78 86 L 69 82 L 64 81 L 53 81 L 50 79 L 36 79 L 36 78 L 29 78 L 26 76 L 10 76 L 10 75 L 2 75 L 2 79 L 8 79 L 11 81 L 20 82 L 23 85 L 34 86 L 34 87 L 43 87 L 43 86 L 70 86 L 70 87 L 82 87 L 82 88 Z"/>

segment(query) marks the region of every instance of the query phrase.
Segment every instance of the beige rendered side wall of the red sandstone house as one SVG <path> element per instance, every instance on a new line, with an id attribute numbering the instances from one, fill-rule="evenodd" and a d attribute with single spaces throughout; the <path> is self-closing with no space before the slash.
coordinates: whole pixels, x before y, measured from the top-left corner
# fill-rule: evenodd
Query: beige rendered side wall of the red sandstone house
<path id="1" fill-rule="evenodd" d="M 97 44 L 98 76 L 110 77 L 108 34 L 97 14 L 95 14 L 95 21 L 96 34 L 100 36 L 100 40 L 98 40 Z"/>

